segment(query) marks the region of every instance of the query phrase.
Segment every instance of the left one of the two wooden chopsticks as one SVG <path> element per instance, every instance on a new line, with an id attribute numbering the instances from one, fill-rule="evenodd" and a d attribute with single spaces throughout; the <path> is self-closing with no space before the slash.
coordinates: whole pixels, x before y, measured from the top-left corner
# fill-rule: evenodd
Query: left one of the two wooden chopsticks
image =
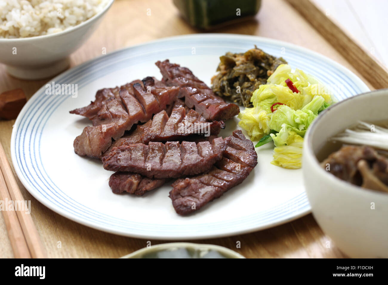
<path id="1" fill-rule="evenodd" d="M 6 201 L 10 201 L 11 197 L 5 184 L 4 176 L 0 171 L 0 199 L 3 200 L 4 207 L 8 207 Z M 9 240 L 11 242 L 12 250 L 15 258 L 31 258 L 26 239 L 24 238 L 23 230 L 17 218 L 15 211 L 7 211 L 2 209 L 2 214 L 7 227 Z"/>

